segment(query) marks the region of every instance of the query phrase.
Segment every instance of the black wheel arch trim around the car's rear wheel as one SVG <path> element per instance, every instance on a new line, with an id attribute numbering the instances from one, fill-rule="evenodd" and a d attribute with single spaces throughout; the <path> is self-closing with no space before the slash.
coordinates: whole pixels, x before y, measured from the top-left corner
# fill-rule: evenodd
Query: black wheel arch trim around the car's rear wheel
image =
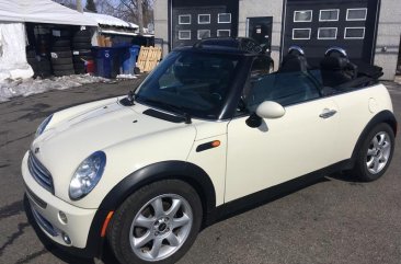
<path id="1" fill-rule="evenodd" d="M 370 130 L 377 126 L 380 123 L 386 123 L 388 124 L 393 133 L 394 136 L 397 136 L 397 119 L 393 113 L 391 113 L 388 110 L 381 111 L 378 114 L 376 114 L 370 120 L 369 123 L 365 126 L 364 130 L 362 131 L 362 134 L 359 135 L 358 140 L 356 141 L 356 145 L 354 147 L 353 150 L 353 154 L 352 154 L 352 160 L 355 161 L 356 156 L 358 153 L 358 150 L 360 149 L 362 145 L 364 144 L 365 138 L 367 137 L 367 135 L 370 133 Z"/>

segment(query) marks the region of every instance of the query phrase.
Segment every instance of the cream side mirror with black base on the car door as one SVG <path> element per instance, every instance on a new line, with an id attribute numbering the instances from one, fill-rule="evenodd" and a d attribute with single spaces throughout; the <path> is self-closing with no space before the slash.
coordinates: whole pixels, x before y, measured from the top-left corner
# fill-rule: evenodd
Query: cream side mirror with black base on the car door
<path id="1" fill-rule="evenodd" d="M 262 125 L 263 118 L 279 118 L 285 113 L 286 111 L 280 104 L 273 101 L 265 101 L 261 103 L 257 106 L 256 112 L 251 114 L 251 116 L 247 119 L 247 125 L 252 128 L 256 128 Z"/>

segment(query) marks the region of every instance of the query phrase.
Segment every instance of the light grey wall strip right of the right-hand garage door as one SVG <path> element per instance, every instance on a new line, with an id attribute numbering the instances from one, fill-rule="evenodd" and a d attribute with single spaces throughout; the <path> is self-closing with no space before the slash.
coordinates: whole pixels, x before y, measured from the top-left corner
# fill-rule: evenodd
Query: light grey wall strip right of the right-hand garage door
<path id="1" fill-rule="evenodd" d="M 385 80 L 396 77 L 401 35 L 401 1 L 381 0 L 375 65 L 383 68 Z"/>

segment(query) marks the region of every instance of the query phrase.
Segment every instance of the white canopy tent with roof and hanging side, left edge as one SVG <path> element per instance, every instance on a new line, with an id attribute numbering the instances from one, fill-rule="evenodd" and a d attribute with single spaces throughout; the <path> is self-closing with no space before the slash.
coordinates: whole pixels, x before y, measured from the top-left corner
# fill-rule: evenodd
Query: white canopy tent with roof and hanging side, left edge
<path id="1" fill-rule="evenodd" d="M 0 82 L 34 73 L 26 62 L 25 22 L 98 26 L 91 18 L 50 0 L 0 0 Z"/>

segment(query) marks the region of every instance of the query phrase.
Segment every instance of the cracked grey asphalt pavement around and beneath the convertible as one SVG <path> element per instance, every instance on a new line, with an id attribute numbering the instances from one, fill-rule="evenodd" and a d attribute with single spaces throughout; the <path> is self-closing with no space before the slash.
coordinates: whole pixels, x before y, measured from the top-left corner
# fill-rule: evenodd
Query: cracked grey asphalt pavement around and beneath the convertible
<path id="1" fill-rule="evenodd" d="M 82 260 L 43 245 L 24 213 L 20 164 L 47 115 L 125 94 L 137 83 L 95 83 L 0 103 L 0 263 L 115 263 L 110 254 Z M 387 84 L 401 122 L 401 85 Z M 379 181 L 359 183 L 347 174 L 328 175 L 206 228 L 180 263 L 399 264 L 400 146 L 399 135 L 392 164 Z"/>

